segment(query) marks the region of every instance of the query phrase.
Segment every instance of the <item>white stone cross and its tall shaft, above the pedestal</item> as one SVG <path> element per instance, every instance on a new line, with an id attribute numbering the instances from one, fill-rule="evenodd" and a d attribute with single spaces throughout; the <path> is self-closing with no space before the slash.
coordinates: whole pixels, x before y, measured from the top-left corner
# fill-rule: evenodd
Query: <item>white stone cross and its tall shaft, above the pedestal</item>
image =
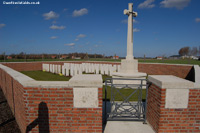
<path id="1" fill-rule="evenodd" d="M 133 3 L 128 4 L 129 9 L 124 10 L 124 14 L 128 15 L 128 34 L 127 34 L 127 60 L 133 60 L 133 17 L 137 16 L 137 12 L 133 11 Z"/>

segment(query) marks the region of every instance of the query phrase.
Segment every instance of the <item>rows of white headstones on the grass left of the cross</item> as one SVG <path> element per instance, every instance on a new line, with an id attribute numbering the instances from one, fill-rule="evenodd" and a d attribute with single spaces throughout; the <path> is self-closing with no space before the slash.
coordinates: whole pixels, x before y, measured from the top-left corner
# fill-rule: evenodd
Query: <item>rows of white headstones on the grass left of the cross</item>
<path id="1" fill-rule="evenodd" d="M 74 76 L 83 73 L 94 73 L 112 76 L 113 72 L 119 72 L 120 65 L 96 64 L 96 63 L 64 63 L 64 65 L 42 64 L 42 69 L 47 72 Z"/>

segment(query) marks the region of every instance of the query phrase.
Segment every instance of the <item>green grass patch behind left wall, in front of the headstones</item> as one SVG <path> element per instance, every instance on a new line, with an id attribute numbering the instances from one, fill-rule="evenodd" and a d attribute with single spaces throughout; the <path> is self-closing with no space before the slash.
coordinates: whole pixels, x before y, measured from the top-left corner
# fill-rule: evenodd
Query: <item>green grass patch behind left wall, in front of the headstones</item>
<path id="1" fill-rule="evenodd" d="M 43 71 L 22 71 L 21 73 L 39 81 L 69 81 L 71 78 Z"/>

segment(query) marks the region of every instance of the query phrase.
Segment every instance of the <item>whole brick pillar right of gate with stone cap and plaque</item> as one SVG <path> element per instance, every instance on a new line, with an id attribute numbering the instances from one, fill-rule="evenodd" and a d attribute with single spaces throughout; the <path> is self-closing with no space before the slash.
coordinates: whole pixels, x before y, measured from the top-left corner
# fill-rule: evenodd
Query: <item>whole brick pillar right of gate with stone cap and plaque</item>
<path id="1" fill-rule="evenodd" d="M 200 88 L 175 76 L 152 75 L 147 121 L 156 132 L 200 132 Z"/>

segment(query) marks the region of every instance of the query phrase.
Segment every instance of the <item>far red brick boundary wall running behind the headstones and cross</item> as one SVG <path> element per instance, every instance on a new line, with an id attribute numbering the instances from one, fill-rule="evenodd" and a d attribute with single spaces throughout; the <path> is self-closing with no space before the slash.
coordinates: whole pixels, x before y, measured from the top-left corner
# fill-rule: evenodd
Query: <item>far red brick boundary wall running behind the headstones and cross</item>
<path id="1" fill-rule="evenodd" d="M 35 71 L 42 70 L 42 63 L 63 65 L 65 62 L 25 62 L 25 63 L 2 63 L 17 71 Z M 83 62 L 68 62 L 83 63 Z M 101 63 L 101 64 L 120 64 L 115 62 L 88 62 L 84 63 Z M 174 75 L 180 78 L 186 78 L 193 66 L 186 65 L 167 65 L 167 64 L 150 64 L 139 63 L 138 71 L 145 72 L 149 75 Z"/>

